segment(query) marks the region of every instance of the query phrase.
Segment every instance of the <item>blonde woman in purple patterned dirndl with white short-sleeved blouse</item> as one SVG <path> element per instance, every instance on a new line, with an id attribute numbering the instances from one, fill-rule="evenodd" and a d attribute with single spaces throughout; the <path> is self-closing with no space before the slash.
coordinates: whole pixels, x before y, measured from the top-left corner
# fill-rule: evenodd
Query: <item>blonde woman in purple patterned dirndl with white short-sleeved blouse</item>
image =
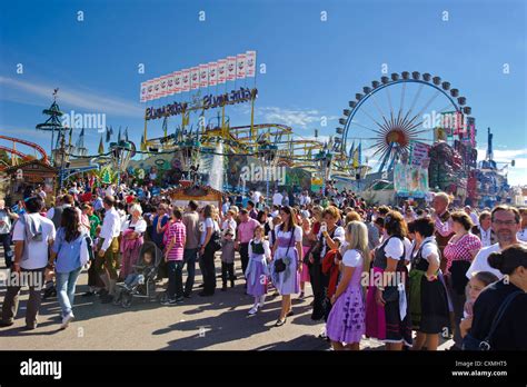
<path id="1" fill-rule="evenodd" d="M 346 250 L 340 264 L 341 278 L 331 297 L 331 311 L 326 326 L 335 350 L 359 350 L 366 331 L 365 292 L 360 284 L 362 272 L 369 270 L 368 229 L 361 221 L 346 226 Z"/>

